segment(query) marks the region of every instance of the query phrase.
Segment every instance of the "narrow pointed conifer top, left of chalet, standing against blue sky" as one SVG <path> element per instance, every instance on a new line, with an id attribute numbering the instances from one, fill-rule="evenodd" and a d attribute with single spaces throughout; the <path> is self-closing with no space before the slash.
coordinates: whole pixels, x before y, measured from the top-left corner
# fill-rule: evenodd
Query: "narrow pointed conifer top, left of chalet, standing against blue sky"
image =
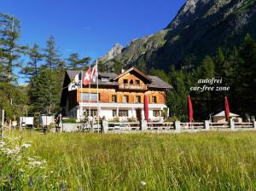
<path id="1" fill-rule="evenodd" d="M 55 47 L 55 38 L 50 35 L 49 39 L 46 41 L 46 49 L 45 51 L 45 57 L 46 57 L 46 63 L 44 67 L 47 67 L 49 69 L 53 69 L 55 67 L 58 67 L 58 64 L 60 62 L 60 55 L 58 55 L 58 50 Z"/>

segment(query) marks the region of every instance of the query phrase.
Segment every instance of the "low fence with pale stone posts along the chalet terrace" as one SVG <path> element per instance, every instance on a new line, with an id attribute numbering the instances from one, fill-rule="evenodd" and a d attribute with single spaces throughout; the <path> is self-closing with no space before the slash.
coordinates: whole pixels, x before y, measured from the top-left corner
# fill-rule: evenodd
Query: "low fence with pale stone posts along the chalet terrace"
<path id="1" fill-rule="evenodd" d="M 182 132 L 182 131 L 198 131 L 198 130 L 256 130 L 256 122 L 253 123 L 211 123 L 204 121 L 203 123 L 181 123 L 175 122 L 147 122 L 145 120 L 138 122 L 108 123 L 103 120 L 101 124 L 61 124 L 61 131 L 96 131 L 96 132 Z"/>

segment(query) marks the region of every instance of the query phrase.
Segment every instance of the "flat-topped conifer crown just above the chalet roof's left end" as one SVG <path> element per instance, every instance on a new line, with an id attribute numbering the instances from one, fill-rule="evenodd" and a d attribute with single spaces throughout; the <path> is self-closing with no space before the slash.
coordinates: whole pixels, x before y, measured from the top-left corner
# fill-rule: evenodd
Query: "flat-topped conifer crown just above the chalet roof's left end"
<path id="1" fill-rule="evenodd" d="M 67 58 L 68 68 L 73 70 L 84 69 L 90 62 L 90 57 L 80 58 L 78 53 L 73 53 Z"/>

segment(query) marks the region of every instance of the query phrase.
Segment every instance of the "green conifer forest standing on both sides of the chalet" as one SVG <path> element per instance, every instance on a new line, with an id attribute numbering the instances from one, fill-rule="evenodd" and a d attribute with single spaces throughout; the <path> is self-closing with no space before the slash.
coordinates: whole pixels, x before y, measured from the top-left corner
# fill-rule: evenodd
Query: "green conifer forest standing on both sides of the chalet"
<path id="1" fill-rule="evenodd" d="M 67 58 L 62 56 L 51 35 L 44 47 L 39 47 L 37 43 L 32 46 L 20 44 L 20 37 L 20 20 L 0 14 L 0 107 L 6 111 L 7 119 L 35 113 L 60 113 L 65 71 L 85 70 L 91 58 L 82 58 L 76 52 Z M 104 72 L 106 69 L 102 64 L 99 64 L 99 70 Z M 182 67 L 170 63 L 168 71 L 145 66 L 148 65 L 143 61 L 137 63 L 139 70 L 172 84 L 173 89 L 166 95 L 172 119 L 187 120 L 189 95 L 195 121 L 209 119 L 213 113 L 222 111 L 224 96 L 229 98 L 232 113 L 238 113 L 243 118 L 256 114 L 256 41 L 250 34 L 239 46 L 229 49 L 219 47 L 195 65 L 189 61 L 181 63 Z M 111 70 L 119 73 L 121 69 L 122 63 L 116 62 Z M 19 78 L 25 78 L 27 85 L 19 85 Z M 222 80 L 221 84 L 206 84 L 214 90 L 193 90 L 192 87 L 203 87 L 199 80 L 212 78 Z"/>

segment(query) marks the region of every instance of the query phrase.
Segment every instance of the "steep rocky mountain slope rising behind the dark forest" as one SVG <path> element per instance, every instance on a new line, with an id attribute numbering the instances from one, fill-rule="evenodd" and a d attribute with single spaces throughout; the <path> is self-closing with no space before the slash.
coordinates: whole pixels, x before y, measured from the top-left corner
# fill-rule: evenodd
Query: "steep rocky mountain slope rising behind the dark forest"
<path id="1" fill-rule="evenodd" d="M 218 47 L 229 48 L 249 33 L 256 38 L 255 0 L 187 0 L 172 22 L 144 38 L 131 41 L 121 54 L 106 61 L 108 67 L 196 65 Z"/>

